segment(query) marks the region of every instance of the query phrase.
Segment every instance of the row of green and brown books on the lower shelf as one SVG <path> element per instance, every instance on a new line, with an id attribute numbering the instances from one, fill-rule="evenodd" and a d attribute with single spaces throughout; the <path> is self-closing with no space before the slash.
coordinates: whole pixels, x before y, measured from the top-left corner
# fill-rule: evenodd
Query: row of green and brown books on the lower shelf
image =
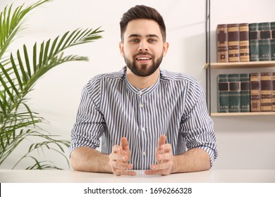
<path id="1" fill-rule="evenodd" d="M 218 112 L 275 112 L 275 72 L 220 74 Z"/>

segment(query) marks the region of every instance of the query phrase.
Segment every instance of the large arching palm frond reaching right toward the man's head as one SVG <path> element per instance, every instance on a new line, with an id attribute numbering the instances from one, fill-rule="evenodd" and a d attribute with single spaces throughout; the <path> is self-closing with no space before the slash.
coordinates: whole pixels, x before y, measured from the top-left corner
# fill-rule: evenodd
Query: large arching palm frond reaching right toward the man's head
<path id="1" fill-rule="evenodd" d="M 63 52 L 69 47 L 93 42 L 94 39 L 101 37 L 99 36 L 100 32 L 102 31 L 99 29 L 66 32 L 61 39 L 56 37 L 52 43 L 51 39 L 47 42 L 42 42 L 39 49 L 37 49 L 37 44 L 35 43 L 32 49 L 32 56 L 35 61 L 32 62 L 32 65 L 29 61 L 29 52 L 25 45 L 23 46 L 23 56 L 21 55 L 22 52 L 19 50 L 16 54 L 17 59 L 15 59 L 13 53 L 11 53 L 11 68 L 4 68 L 3 65 L 0 65 L 4 73 L 4 79 L 0 80 L 0 84 L 3 85 L 4 91 L 11 100 L 11 106 L 9 106 L 9 108 L 14 108 L 17 103 L 22 102 L 35 82 L 37 82 L 42 75 L 51 70 L 51 68 L 69 61 L 87 61 L 87 57 L 75 55 L 63 56 Z M 39 60 L 38 62 L 36 61 L 37 59 Z M 11 73 L 7 74 L 6 70 L 11 70 Z M 11 78 L 11 74 L 16 78 Z M 16 98 L 12 94 L 12 91 L 16 92 Z"/>

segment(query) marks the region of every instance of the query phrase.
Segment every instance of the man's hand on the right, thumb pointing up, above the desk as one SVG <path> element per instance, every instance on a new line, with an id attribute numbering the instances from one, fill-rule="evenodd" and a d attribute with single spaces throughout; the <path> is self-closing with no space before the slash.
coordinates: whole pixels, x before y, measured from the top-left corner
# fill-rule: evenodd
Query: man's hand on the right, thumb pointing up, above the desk
<path id="1" fill-rule="evenodd" d="M 152 170 L 146 170 L 145 174 L 169 175 L 173 167 L 173 153 L 171 144 L 165 144 L 166 136 L 161 135 L 156 150 L 157 165 L 151 165 Z"/>

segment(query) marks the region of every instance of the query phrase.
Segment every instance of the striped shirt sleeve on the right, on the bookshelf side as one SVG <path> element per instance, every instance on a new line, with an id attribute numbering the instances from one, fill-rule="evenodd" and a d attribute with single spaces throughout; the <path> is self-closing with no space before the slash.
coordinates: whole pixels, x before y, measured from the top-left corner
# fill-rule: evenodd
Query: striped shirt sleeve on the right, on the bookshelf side
<path id="1" fill-rule="evenodd" d="M 186 147 L 202 148 L 209 154 L 211 166 L 218 155 L 214 123 L 207 110 L 204 91 L 197 82 L 185 90 L 185 110 L 181 120 Z"/>

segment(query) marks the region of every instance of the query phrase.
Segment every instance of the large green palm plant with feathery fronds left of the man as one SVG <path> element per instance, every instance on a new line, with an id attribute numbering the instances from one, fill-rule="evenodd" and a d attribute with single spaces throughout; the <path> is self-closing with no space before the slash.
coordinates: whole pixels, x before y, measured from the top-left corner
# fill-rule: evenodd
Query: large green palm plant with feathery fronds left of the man
<path id="1" fill-rule="evenodd" d="M 51 68 L 69 61 L 88 61 L 87 57 L 64 55 L 68 48 L 79 44 L 93 42 L 101 38 L 102 30 L 77 29 L 49 39 L 41 44 L 35 43 L 32 49 L 25 44 L 16 53 L 7 55 L 8 46 L 16 34 L 23 29 L 25 17 L 37 6 L 51 0 L 40 0 L 30 6 L 6 6 L 0 15 L 0 166 L 8 156 L 30 138 L 36 141 L 30 144 L 27 152 L 11 164 L 14 169 L 18 163 L 29 158 L 32 163 L 26 169 L 60 169 L 54 162 L 32 154 L 46 150 L 56 151 L 68 163 L 64 148 L 69 141 L 56 139 L 56 136 L 39 128 L 38 124 L 45 122 L 43 117 L 31 110 L 27 103 L 27 95 L 35 86 L 37 80 Z M 69 163 L 68 163 L 69 165 Z"/>

